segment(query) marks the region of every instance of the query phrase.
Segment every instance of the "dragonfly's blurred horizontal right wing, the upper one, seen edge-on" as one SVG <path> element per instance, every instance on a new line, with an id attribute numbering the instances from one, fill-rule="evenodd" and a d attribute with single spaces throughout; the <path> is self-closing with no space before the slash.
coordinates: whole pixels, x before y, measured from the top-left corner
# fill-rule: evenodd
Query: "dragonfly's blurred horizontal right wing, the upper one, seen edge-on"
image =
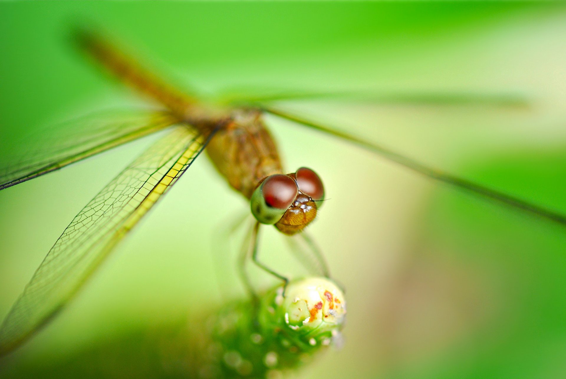
<path id="1" fill-rule="evenodd" d="M 250 93 L 256 95 L 250 95 Z M 258 93 L 259 92 L 259 93 Z M 372 104 L 481 105 L 485 107 L 526 108 L 529 99 L 517 93 L 474 92 L 387 92 L 387 91 L 289 91 L 231 90 L 220 96 L 230 105 L 269 103 L 286 100 L 340 100 Z"/>

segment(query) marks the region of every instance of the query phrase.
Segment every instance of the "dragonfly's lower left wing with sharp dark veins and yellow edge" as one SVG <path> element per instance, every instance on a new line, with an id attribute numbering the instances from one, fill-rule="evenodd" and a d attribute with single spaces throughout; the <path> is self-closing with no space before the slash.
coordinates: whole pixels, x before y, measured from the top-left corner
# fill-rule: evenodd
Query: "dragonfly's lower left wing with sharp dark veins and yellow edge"
<path id="1" fill-rule="evenodd" d="M 203 136 L 191 127 L 175 127 L 76 215 L 2 323 L 0 356 L 31 336 L 75 295 L 204 146 Z"/>

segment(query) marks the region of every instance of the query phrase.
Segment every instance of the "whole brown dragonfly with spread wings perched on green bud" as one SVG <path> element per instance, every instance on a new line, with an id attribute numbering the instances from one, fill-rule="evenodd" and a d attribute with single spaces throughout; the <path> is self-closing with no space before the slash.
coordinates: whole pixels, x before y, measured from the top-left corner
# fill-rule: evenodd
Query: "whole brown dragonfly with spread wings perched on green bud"
<path id="1" fill-rule="evenodd" d="M 179 90 L 126 54 L 115 42 L 91 29 L 74 32 L 76 44 L 102 70 L 152 100 L 158 110 L 102 120 L 80 135 L 49 144 L 44 151 L 24 156 L 0 172 L 0 190 L 56 171 L 101 152 L 155 133 L 165 133 L 118 174 L 80 212 L 46 255 L 0 326 L 0 356 L 32 337 L 71 301 L 101 263 L 148 211 L 168 193 L 202 152 L 229 186 L 250 203 L 255 223 L 246 257 L 285 283 L 288 279 L 259 259 L 262 225 L 274 225 L 285 235 L 306 239 L 303 233 L 324 201 L 323 181 L 314 169 L 285 172 L 277 145 L 268 131 L 269 114 L 336 139 L 354 144 L 430 180 L 441 182 L 487 201 L 515 208 L 548 222 L 566 225 L 566 215 L 526 199 L 491 189 L 429 167 L 409 156 L 355 134 L 308 120 L 273 105 L 277 100 L 350 97 L 351 93 L 278 93 L 209 104 Z M 362 97 L 365 95 L 362 94 Z M 410 96 L 374 96 L 371 101 L 411 102 Z M 424 99 L 426 100 L 426 99 Z M 429 99 L 430 100 L 430 99 Z M 513 103 L 501 97 L 436 97 L 437 103 Z M 311 243 L 312 245 L 312 243 Z M 319 257 L 320 258 L 320 257 Z M 320 260 L 320 259 L 319 259 Z M 329 276 L 324 262 L 325 276 Z M 253 293 L 243 276 L 246 287 Z"/>

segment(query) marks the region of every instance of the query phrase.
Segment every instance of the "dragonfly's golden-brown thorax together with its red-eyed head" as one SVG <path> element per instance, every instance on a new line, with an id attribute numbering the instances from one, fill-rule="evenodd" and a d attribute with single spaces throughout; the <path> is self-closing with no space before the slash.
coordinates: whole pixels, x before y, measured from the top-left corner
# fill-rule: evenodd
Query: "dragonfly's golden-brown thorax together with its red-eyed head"
<path id="1" fill-rule="evenodd" d="M 218 172 L 250 199 L 258 222 L 292 235 L 315 219 L 315 202 L 324 197 L 322 181 L 305 167 L 283 173 L 275 141 L 258 110 L 233 110 L 207 152 Z"/>

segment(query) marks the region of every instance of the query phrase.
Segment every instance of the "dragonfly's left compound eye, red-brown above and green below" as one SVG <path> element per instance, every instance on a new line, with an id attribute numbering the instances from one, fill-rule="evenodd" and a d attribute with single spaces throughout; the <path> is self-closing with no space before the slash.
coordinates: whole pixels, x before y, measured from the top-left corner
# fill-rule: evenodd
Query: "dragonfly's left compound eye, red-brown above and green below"
<path id="1" fill-rule="evenodd" d="M 275 224 L 299 193 L 293 178 L 275 174 L 265 178 L 251 197 L 251 212 L 262 224 Z"/>

